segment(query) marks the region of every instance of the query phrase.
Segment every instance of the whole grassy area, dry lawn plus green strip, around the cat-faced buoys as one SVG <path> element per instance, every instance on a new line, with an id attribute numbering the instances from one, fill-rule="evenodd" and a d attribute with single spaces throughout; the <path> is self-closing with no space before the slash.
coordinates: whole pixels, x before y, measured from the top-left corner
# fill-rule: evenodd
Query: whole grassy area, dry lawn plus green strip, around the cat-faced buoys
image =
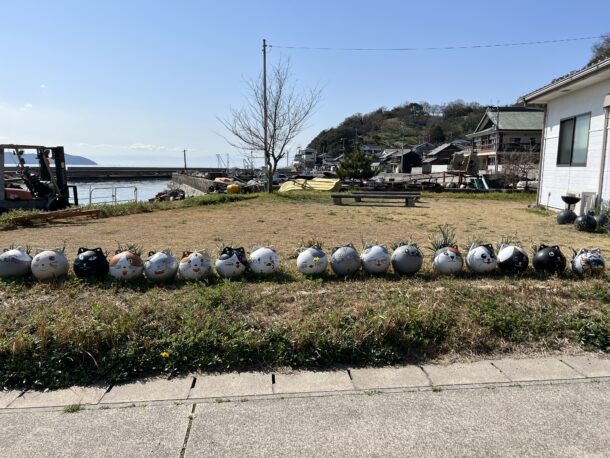
<path id="1" fill-rule="evenodd" d="M 530 196 L 495 199 L 424 194 L 416 208 L 395 203 L 333 206 L 325 194 L 259 196 L 222 205 L 185 205 L 100 220 L 0 232 L 0 246 L 79 246 L 114 251 L 117 241 L 144 251 L 217 250 L 222 244 L 273 245 L 284 269 L 273 278 L 228 282 L 107 279 L 40 284 L 0 282 L 0 386 L 66 386 L 198 368 L 314 367 L 570 351 L 610 352 L 608 277 L 566 273 L 521 277 L 439 277 L 428 237 L 456 227 L 458 243 L 504 236 L 534 243 L 600 247 L 610 236 L 558 226 L 528 208 Z M 305 279 L 291 256 L 303 240 L 329 248 L 410 239 L 424 248 L 413 278 L 359 274 Z"/>

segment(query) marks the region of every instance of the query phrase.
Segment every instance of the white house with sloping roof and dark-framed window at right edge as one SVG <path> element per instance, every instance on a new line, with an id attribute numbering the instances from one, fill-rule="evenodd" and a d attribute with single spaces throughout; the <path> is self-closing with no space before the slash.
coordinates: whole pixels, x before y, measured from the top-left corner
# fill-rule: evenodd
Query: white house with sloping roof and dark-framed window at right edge
<path id="1" fill-rule="evenodd" d="M 521 100 L 546 106 L 538 204 L 564 208 L 563 195 L 581 197 L 581 212 L 602 202 L 610 204 L 610 59 L 555 80 Z"/>

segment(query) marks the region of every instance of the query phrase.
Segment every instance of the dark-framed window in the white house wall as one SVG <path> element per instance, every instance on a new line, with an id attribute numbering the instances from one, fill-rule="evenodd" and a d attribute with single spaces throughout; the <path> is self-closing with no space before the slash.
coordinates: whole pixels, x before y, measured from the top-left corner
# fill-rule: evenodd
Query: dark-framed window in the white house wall
<path id="1" fill-rule="evenodd" d="M 561 121 L 558 165 L 587 165 L 591 113 Z"/>

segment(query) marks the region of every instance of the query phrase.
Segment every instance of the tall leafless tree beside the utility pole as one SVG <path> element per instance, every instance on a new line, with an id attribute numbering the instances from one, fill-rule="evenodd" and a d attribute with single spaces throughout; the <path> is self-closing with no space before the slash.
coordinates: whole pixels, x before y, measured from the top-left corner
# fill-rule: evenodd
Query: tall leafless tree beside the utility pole
<path id="1" fill-rule="evenodd" d="M 227 140 L 231 146 L 266 153 L 267 191 L 271 192 L 278 163 L 286 156 L 290 142 L 305 128 L 322 92 L 319 88 L 297 92 L 292 83 L 289 62 L 280 61 L 267 78 L 267 119 L 264 115 L 261 76 L 247 81 L 245 105 L 240 109 L 231 108 L 227 117 L 218 119 L 235 138 Z M 268 151 L 265 151 L 265 123 Z"/>

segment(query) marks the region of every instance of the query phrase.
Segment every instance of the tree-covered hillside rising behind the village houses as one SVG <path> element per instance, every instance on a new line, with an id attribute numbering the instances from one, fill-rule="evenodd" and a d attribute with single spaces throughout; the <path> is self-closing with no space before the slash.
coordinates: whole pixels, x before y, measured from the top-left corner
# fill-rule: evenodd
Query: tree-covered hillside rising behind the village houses
<path id="1" fill-rule="evenodd" d="M 350 151 L 356 144 L 401 148 L 429 141 L 443 143 L 472 132 L 485 110 L 476 102 L 456 100 L 445 105 L 407 102 L 367 114 L 357 113 L 337 127 L 323 130 L 308 145 L 320 153 Z"/>

